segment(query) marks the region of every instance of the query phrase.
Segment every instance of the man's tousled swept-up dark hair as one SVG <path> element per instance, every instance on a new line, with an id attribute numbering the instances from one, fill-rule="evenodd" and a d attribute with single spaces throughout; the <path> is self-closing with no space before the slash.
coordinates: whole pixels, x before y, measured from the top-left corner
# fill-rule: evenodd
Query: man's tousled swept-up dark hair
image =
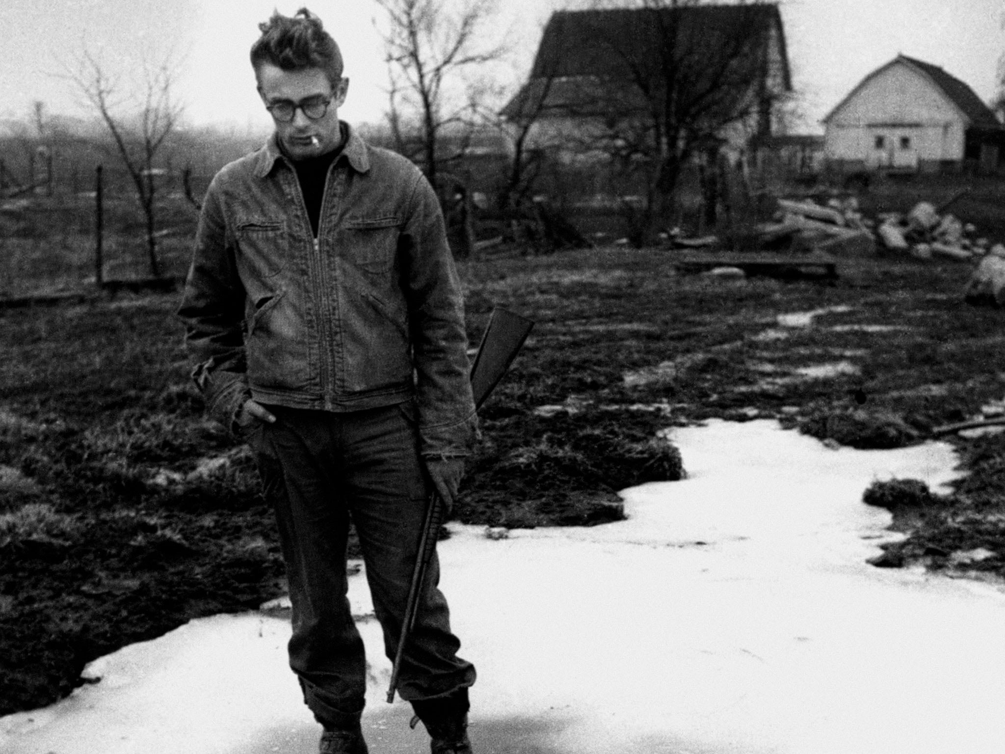
<path id="1" fill-rule="evenodd" d="M 290 18 L 279 11 L 258 24 L 261 36 L 251 45 L 251 67 L 258 72 L 262 63 L 271 63 L 282 70 L 321 68 L 332 86 L 342 78 L 342 52 L 325 26 L 307 8 L 300 8 Z"/>

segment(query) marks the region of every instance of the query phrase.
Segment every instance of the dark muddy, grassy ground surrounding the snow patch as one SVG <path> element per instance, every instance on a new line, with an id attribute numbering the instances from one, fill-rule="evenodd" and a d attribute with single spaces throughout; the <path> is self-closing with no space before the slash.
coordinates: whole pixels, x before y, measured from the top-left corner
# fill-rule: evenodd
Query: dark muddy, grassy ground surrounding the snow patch
<path id="1" fill-rule="evenodd" d="M 847 259 L 826 285 L 679 275 L 670 253 L 463 266 L 472 344 L 494 306 L 538 324 L 482 408 L 455 518 L 616 520 L 617 490 L 681 474 L 657 434 L 671 424 L 775 417 L 892 447 L 1005 397 L 1005 313 L 963 303 L 967 264 Z M 0 312 L 0 715 L 66 695 L 123 644 L 283 590 L 251 458 L 203 419 L 176 305 Z M 1005 435 L 949 439 L 970 475 L 899 506 L 911 536 L 877 565 L 1001 575 Z"/>

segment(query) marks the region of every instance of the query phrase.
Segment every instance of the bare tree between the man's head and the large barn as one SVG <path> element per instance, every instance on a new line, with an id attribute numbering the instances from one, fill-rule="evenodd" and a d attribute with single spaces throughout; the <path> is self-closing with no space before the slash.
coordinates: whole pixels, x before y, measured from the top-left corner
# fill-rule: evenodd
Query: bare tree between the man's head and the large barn
<path id="1" fill-rule="evenodd" d="M 504 51 L 502 45 L 482 42 L 481 32 L 495 11 L 495 0 L 377 2 L 387 14 L 382 35 L 391 78 L 392 133 L 399 148 L 416 158 L 436 186 L 444 161 L 439 154 L 444 131 L 469 123 L 477 112 L 473 77 L 465 72 L 497 60 Z M 414 140 L 403 110 L 415 114 Z"/>

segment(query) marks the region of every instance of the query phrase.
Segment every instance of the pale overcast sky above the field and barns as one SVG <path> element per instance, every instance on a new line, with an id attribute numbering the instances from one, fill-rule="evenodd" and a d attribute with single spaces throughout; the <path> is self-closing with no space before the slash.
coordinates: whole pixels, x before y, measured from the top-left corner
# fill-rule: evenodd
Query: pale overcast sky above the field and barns
<path id="1" fill-rule="evenodd" d="M 588 0 L 498 0 L 490 42 L 514 48 L 501 73 L 516 87 L 527 74 L 541 29 L 559 8 Z M 177 95 L 193 124 L 267 127 L 254 91 L 247 50 L 257 23 L 278 8 L 304 4 L 322 17 L 346 58 L 349 99 L 340 115 L 376 122 L 387 102 L 387 72 L 373 20 L 373 0 L 0 0 L 0 117 L 26 116 L 34 101 L 51 113 L 81 113 L 72 86 L 58 76 L 86 47 L 111 69 L 135 68 L 143 52 L 181 53 Z M 995 92 L 1005 51 L 1005 0 L 783 0 L 794 83 L 807 124 L 818 121 L 863 76 L 898 52 L 941 65 L 985 101 Z M 130 62 L 134 61 L 134 62 Z"/>

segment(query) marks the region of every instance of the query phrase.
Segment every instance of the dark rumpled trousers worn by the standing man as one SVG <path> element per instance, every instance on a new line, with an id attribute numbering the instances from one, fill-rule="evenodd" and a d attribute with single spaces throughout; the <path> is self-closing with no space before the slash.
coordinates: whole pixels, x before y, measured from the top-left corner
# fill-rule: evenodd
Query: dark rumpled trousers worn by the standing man
<path id="1" fill-rule="evenodd" d="M 384 650 L 393 659 L 428 490 L 413 404 L 349 413 L 268 408 L 275 423 L 257 426 L 250 442 L 286 562 L 289 665 L 318 722 L 352 726 L 364 706 L 366 659 L 346 596 L 349 522 L 359 535 Z M 438 582 L 434 557 L 400 670 L 405 700 L 440 697 L 474 683 L 474 667 L 456 654 L 460 641 L 450 632 Z"/>

